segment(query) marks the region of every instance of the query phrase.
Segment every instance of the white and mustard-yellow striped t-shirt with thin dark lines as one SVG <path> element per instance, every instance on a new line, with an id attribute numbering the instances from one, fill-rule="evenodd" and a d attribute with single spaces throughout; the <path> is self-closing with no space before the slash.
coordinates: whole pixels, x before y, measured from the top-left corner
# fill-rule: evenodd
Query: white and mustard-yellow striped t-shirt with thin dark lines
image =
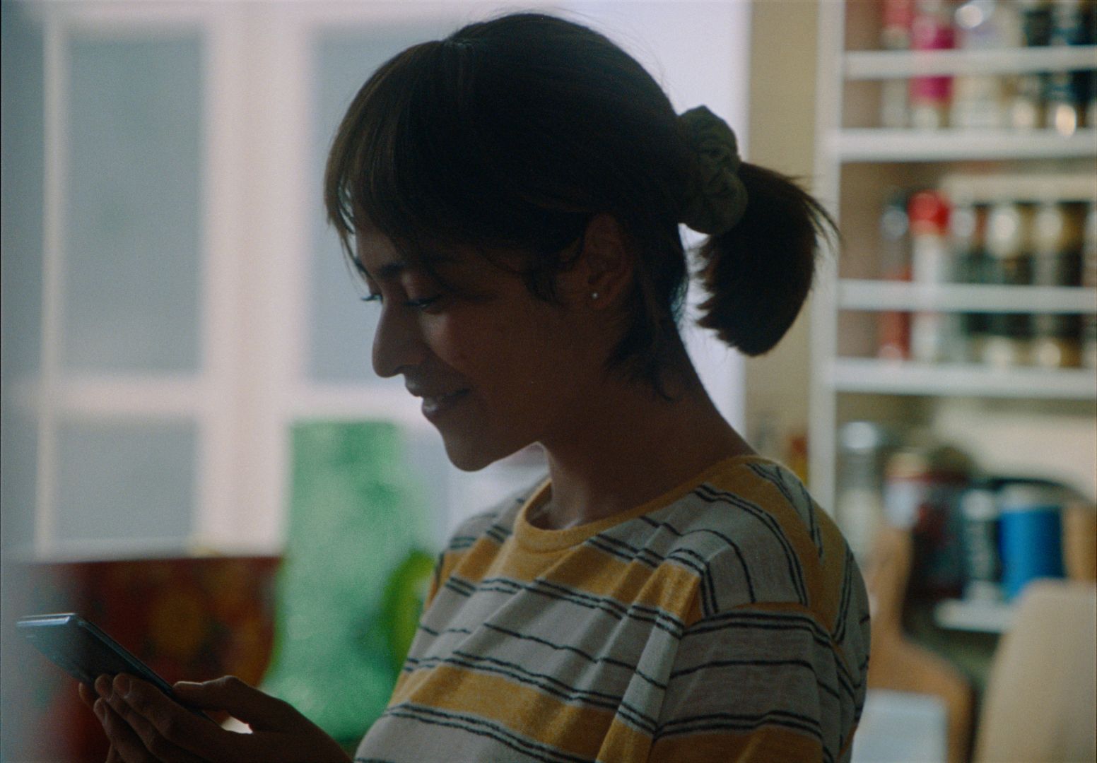
<path id="1" fill-rule="evenodd" d="M 795 475 L 723 460 L 546 531 L 551 483 L 465 522 L 355 761 L 848 761 L 869 610 Z"/>

